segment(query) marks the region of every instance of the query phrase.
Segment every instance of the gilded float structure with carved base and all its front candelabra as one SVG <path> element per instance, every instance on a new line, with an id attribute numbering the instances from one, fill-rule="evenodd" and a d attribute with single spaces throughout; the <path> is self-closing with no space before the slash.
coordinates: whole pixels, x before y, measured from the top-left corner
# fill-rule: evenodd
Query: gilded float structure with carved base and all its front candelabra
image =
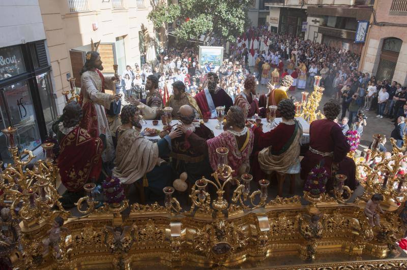
<path id="1" fill-rule="evenodd" d="M 171 186 L 163 189 L 162 205 L 129 204 L 120 181 L 108 179 L 102 185 L 104 199 L 94 183 L 83 186 L 86 195 L 76 204 L 81 215 L 73 216 L 58 200 L 53 144 L 44 143 L 45 159 L 28 169 L 35 156 L 28 150 L 19 153 L 16 131 L 3 130 L 14 161 L 0 172 L 0 250 L 11 268 L 407 268 L 407 256 L 396 243 L 407 226 L 407 186 L 399 173 L 406 156 L 382 156 L 380 134 L 371 152 L 355 159 L 364 192 L 352 203 L 347 202 L 352 192 L 344 186 L 346 176 L 335 176 L 334 192 L 328 195 L 328 176 L 318 168 L 302 196 L 270 199 L 269 180 L 232 177 L 228 149 L 218 148 L 213 179 L 192 185 L 188 208 L 181 207 Z M 395 153 L 405 152 L 405 146 L 392 143 Z M 382 161 L 372 163 L 376 157 Z M 383 214 L 369 216 L 377 196 Z"/>

